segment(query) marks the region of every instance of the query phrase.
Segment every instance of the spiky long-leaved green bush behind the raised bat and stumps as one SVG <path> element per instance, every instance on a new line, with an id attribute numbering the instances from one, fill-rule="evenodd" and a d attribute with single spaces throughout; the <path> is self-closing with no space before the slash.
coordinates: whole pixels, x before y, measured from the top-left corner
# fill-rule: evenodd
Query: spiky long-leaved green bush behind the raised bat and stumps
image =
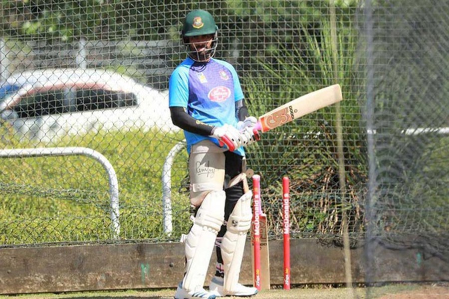
<path id="1" fill-rule="evenodd" d="M 292 229 L 302 233 L 341 233 L 336 109 L 341 109 L 345 196 L 351 205 L 350 230 L 354 234 L 362 232 L 359 192 L 366 182 L 367 164 L 357 101 L 358 88 L 363 86 L 356 72 L 357 33 L 352 22 L 344 19 L 338 21 L 336 31 L 336 53 L 332 47 L 331 24 L 323 21 L 319 30 L 302 31 L 301 47 L 276 50 L 274 56 L 278 64 L 254 58 L 254 63 L 262 65 L 264 71 L 258 76 L 243 79 L 250 113 L 257 116 L 300 95 L 335 83 L 339 83 L 343 91 L 344 100 L 340 108 L 337 105 L 327 107 L 264 133 L 261 142 L 247 150 L 250 165 L 255 172 L 262 174 L 265 210 L 276 232 L 281 229 L 281 177 L 287 175 L 291 181 L 291 209 L 295 222 Z"/>

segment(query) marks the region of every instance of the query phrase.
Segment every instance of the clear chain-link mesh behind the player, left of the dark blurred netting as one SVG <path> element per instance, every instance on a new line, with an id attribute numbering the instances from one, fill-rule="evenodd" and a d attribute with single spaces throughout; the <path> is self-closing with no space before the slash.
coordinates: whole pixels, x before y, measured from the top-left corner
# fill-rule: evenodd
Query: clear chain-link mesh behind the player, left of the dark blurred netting
<path id="1" fill-rule="evenodd" d="M 329 1 L 316 0 L 79 5 L 3 3 L 3 149 L 101 152 L 118 177 L 120 239 L 178 239 L 190 226 L 187 154 L 179 152 L 171 171 L 163 171 L 165 158 L 183 139 L 171 123 L 166 90 L 171 71 L 186 56 L 179 36 L 182 18 L 192 8 L 204 8 L 220 27 L 217 57 L 237 69 L 252 115 L 335 82 L 343 86 L 347 194 L 338 184 L 335 108 L 267 133 L 247 149 L 250 167 L 262 176 L 272 237 L 281 235 L 283 175 L 292 182 L 295 236 L 339 237 L 342 196 L 352 205 L 352 232 L 361 236 L 366 166 L 352 70 L 355 1 L 337 3 L 333 23 Z M 337 30 L 335 49 L 331 28 Z M 3 244 L 113 239 L 101 165 L 78 156 L 3 157 Z M 163 202 L 163 173 L 171 174 L 170 202 Z M 164 232 L 170 220 L 173 229 Z M 39 237 L 29 242 L 33 234 Z"/>

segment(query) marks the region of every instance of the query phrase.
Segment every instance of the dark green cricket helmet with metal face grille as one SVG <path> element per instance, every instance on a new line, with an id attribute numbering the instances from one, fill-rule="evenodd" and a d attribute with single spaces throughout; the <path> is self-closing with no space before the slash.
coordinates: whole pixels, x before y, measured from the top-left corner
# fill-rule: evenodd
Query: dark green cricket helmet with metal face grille
<path id="1" fill-rule="evenodd" d="M 182 37 L 186 45 L 187 53 L 195 61 L 209 61 L 215 55 L 218 45 L 218 27 L 214 17 L 206 10 L 193 10 L 189 12 L 184 20 Z M 189 37 L 213 34 L 211 48 L 199 52 L 195 44 L 190 42 Z"/>

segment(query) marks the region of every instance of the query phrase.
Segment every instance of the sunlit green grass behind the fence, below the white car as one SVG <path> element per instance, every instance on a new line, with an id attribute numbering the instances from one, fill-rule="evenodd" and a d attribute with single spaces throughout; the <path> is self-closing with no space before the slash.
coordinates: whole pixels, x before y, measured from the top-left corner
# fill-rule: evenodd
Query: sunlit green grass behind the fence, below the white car
<path id="1" fill-rule="evenodd" d="M 119 183 L 121 238 L 163 238 L 162 166 L 180 135 L 100 132 L 67 137 L 53 147 L 95 149 L 113 165 Z M 44 147 L 9 140 L 13 148 Z M 172 186 L 184 184 L 187 153 L 176 157 Z M 112 238 L 108 178 L 85 156 L 0 159 L 0 244 L 103 241 Z M 186 192 L 173 192 L 177 237 L 189 225 Z M 187 214 L 186 214 L 187 213 Z"/>

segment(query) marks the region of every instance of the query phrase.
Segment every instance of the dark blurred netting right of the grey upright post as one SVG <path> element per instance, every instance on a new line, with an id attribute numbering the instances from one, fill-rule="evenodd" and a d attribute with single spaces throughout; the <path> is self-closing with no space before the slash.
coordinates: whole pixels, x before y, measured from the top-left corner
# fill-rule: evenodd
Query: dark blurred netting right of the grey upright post
<path id="1" fill-rule="evenodd" d="M 366 219 L 372 244 L 367 256 L 370 262 L 376 259 L 377 241 L 397 250 L 415 248 L 447 267 L 449 3 L 364 4 L 361 56 L 367 97 L 362 98 L 370 165 Z"/>

